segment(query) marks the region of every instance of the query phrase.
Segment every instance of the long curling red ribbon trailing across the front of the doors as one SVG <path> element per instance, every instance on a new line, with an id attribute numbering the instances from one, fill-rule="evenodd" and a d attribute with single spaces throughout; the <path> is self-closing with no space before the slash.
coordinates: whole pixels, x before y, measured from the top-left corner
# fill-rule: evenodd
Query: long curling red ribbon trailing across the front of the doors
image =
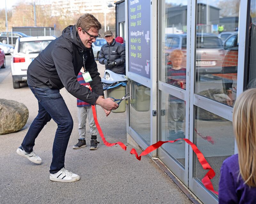
<path id="1" fill-rule="evenodd" d="M 92 88 L 89 86 L 90 90 L 92 91 Z M 100 133 L 100 137 L 103 141 L 103 143 L 107 146 L 107 147 L 111 147 L 111 146 L 114 146 L 116 144 L 120 145 L 120 147 L 122 147 L 122 149 L 124 149 L 126 151 L 126 146 L 124 145 L 124 143 L 122 142 L 116 142 L 116 143 L 109 143 L 106 141 L 104 135 L 103 135 L 103 132 L 100 128 L 100 125 L 99 125 L 99 122 L 98 122 L 98 119 L 97 119 L 97 114 L 96 114 L 96 109 L 95 109 L 95 106 L 92 105 L 92 113 L 93 113 L 93 118 L 95 120 L 95 124 L 96 124 L 96 127 Z M 204 155 L 202 154 L 202 152 L 200 152 L 200 150 L 196 147 L 196 145 L 194 143 L 192 143 L 190 140 L 186 139 L 186 138 L 183 138 L 183 139 L 177 139 L 177 140 L 184 140 L 185 142 L 187 142 L 193 149 L 193 151 L 195 152 L 197 158 L 198 158 L 198 161 L 200 162 L 200 164 L 202 165 L 202 167 L 205 169 L 205 170 L 209 170 L 204 178 L 202 179 L 202 183 L 204 184 L 205 188 L 212 191 L 213 193 L 215 194 L 218 194 L 217 191 L 214 191 L 213 189 L 213 185 L 212 185 L 212 182 L 211 182 L 211 179 L 215 176 L 215 172 L 214 170 L 212 169 L 212 167 L 210 166 L 210 164 L 206 161 L 206 159 L 204 158 Z M 149 147 L 147 147 L 143 152 L 141 152 L 141 154 L 138 156 L 138 153 L 137 151 L 132 148 L 131 151 L 130 151 L 130 154 L 132 155 L 135 155 L 136 158 L 138 160 L 141 159 L 141 156 L 145 156 L 147 154 L 149 154 L 150 152 L 156 150 L 157 148 L 161 147 L 164 143 L 166 142 L 170 142 L 170 143 L 173 143 L 177 140 L 169 140 L 169 141 L 158 141 L 156 142 L 155 144 L 153 145 L 150 145 Z"/>

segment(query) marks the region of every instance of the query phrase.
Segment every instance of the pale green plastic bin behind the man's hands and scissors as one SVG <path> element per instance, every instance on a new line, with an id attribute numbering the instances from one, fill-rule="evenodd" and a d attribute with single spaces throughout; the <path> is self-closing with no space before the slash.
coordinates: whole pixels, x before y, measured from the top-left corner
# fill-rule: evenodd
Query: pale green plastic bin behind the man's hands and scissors
<path id="1" fill-rule="evenodd" d="M 107 97 L 113 97 L 116 99 L 120 99 L 125 95 L 125 87 L 126 86 L 117 86 L 115 88 L 110 88 L 107 90 Z M 119 101 L 116 101 L 119 102 Z M 126 110 L 125 100 L 119 103 L 119 107 L 116 110 L 111 110 L 113 113 L 123 113 Z"/>

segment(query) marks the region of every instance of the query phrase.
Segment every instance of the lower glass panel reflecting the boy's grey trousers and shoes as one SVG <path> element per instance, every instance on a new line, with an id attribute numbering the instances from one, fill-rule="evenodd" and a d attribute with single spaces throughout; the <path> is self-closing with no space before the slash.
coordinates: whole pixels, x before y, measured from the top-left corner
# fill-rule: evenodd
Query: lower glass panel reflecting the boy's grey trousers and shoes
<path id="1" fill-rule="evenodd" d="M 175 96 L 161 92 L 160 140 L 185 138 L 186 104 Z M 185 141 L 165 143 L 162 147 L 172 158 L 185 167 Z"/>

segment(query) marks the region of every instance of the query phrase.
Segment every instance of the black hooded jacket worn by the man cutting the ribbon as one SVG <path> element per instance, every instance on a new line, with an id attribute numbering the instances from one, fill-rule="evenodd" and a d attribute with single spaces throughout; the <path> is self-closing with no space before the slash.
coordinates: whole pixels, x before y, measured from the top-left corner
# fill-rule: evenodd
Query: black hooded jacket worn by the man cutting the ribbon
<path id="1" fill-rule="evenodd" d="M 90 85 L 94 91 L 79 84 L 76 76 L 83 65 L 89 71 L 92 81 Z M 68 26 L 62 35 L 50 44 L 28 66 L 28 85 L 32 87 L 50 87 L 67 91 L 80 100 L 95 104 L 99 95 L 103 95 L 100 74 L 94 60 L 92 49 L 85 48 L 76 26 Z"/>

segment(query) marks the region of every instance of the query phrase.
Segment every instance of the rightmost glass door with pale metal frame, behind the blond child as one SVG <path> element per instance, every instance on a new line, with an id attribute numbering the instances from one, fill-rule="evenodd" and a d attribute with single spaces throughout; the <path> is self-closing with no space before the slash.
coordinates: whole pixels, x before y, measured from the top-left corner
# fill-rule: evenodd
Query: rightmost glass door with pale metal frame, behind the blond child
<path id="1" fill-rule="evenodd" d="M 239 63 L 244 63 L 245 27 L 240 22 L 241 16 L 246 19 L 246 5 L 240 0 L 197 0 L 191 6 L 189 140 L 215 171 L 212 184 L 218 191 L 222 162 L 236 153 L 232 111 L 243 87 L 238 73 L 243 73 Z M 218 195 L 201 181 L 207 171 L 190 148 L 189 189 L 203 203 L 218 203 Z"/>

